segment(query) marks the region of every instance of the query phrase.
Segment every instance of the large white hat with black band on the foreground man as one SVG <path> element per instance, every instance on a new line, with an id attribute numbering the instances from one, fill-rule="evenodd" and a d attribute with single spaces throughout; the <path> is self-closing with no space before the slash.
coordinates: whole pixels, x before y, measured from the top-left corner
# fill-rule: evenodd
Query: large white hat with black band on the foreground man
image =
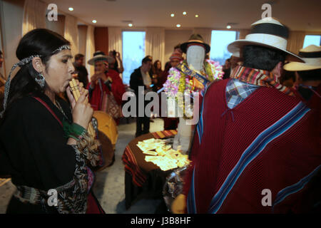
<path id="1" fill-rule="evenodd" d="M 256 21 L 251 26 L 251 32 L 245 36 L 245 39 L 234 41 L 228 45 L 230 53 L 240 53 L 240 56 L 242 56 L 241 50 L 244 46 L 264 46 L 284 52 L 288 61 L 304 62 L 299 56 L 287 51 L 289 29 L 282 25 L 280 21 L 267 17 Z"/>

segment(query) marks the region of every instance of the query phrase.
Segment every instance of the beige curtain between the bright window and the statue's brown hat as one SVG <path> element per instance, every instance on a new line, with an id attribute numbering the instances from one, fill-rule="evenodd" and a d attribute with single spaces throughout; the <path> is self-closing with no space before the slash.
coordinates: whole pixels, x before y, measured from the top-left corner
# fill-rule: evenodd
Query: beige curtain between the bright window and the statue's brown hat
<path id="1" fill-rule="evenodd" d="M 146 56 L 152 56 L 153 62 L 161 61 L 164 66 L 165 28 L 146 28 Z"/>

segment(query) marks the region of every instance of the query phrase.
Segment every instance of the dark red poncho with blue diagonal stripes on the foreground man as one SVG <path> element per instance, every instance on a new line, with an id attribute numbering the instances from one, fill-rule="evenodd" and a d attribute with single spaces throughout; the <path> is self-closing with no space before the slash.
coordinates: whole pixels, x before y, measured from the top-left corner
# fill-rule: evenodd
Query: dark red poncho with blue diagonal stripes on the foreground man
<path id="1" fill-rule="evenodd" d="M 188 212 L 306 212 L 309 182 L 321 171 L 317 112 L 266 87 L 229 109 L 227 83 L 205 93 L 183 190 Z"/>

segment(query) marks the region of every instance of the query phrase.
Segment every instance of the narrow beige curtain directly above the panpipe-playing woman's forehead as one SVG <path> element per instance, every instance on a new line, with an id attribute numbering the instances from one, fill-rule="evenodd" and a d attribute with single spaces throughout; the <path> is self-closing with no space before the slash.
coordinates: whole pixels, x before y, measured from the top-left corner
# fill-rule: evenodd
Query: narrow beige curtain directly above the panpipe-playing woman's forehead
<path id="1" fill-rule="evenodd" d="M 71 43 L 72 55 L 78 54 L 78 26 L 76 17 L 66 14 L 63 36 Z"/>

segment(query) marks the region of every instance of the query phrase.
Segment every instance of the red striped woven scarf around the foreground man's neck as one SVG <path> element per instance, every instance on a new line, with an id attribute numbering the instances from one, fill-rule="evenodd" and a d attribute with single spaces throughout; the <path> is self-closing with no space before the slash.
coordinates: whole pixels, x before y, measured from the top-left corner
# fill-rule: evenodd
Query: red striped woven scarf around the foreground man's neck
<path id="1" fill-rule="evenodd" d="M 290 88 L 277 83 L 275 81 L 275 77 L 269 71 L 237 66 L 230 78 L 235 78 L 243 81 L 244 83 L 249 83 L 255 86 L 274 87 L 282 93 L 294 96 L 294 93 L 292 93 Z"/>

